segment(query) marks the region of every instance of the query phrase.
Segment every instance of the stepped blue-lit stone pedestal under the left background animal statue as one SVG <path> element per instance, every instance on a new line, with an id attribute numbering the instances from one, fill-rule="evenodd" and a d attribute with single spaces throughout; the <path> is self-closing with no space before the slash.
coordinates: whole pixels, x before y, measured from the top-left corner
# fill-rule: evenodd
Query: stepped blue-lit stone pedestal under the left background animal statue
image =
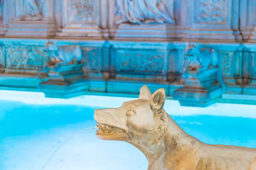
<path id="1" fill-rule="evenodd" d="M 83 63 L 49 67 L 49 79 L 41 82 L 39 91 L 46 97 L 71 98 L 88 91 L 89 82 L 84 77 Z"/>

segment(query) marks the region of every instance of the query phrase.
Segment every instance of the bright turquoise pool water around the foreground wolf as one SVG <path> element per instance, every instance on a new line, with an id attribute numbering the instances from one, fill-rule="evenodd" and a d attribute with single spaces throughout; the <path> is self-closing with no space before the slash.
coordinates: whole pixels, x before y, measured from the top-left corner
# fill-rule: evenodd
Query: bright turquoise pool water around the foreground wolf
<path id="1" fill-rule="evenodd" d="M 95 99 L 98 105 L 104 102 L 104 97 L 97 96 Z M 110 99 L 115 101 L 115 98 Z M 238 110 L 234 112 L 236 116 L 227 116 L 232 113 L 223 116 L 207 114 L 220 106 L 204 110 L 198 108 L 198 115 L 184 114 L 183 108 L 173 107 L 166 108 L 166 112 L 183 130 L 203 142 L 256 148 L 256 119 L 244 116 L 243 111 L 246 110 L 239 110 L 239 105 L 237 109 L 234 106 L 222 109 L 225 112 Z M 95 108 L 101 107 L 69 105 L 68 102 L 38 105 L 0 100 L 0 170 L 41 170 L 67 138 L 79 130 L 96 126 L 93 120 Z M 195 108 L 190 112 L 196 112 Z M 49 161 L 45 170 L 147 169 L 145 156 L 131 144 L 102 141 L 95 136 L 95 132 L 94 129 L 87 130 L 70 139 Z"/>

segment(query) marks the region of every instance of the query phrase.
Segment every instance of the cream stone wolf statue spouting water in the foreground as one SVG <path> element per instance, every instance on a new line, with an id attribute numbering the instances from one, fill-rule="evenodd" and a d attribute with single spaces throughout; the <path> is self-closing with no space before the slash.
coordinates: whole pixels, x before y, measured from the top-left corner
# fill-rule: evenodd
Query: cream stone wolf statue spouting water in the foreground
<path id="1" fill-rule="evenodd" d="M 147 157 L 148 170 L 256 170 L 256 149 L 199 141 L 166 113 L 164 102 L 164 89 L 151 95 L 143 86 L 139 99 L 95 110 L 96 136 L 134 145 Z"/>

